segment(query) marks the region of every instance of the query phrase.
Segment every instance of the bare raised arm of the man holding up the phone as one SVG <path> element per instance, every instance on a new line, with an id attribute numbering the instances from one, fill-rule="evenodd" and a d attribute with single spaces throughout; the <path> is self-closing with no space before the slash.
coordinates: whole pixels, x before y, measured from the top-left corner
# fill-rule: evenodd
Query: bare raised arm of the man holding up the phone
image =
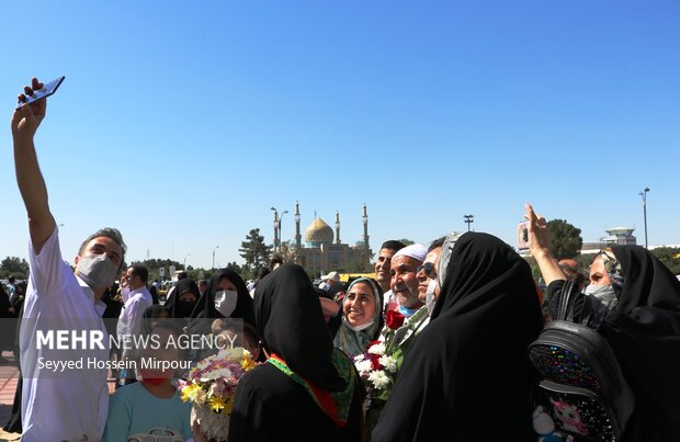
<path id="1" fill-rule="evenodd" d="M 34 90 L 42 87 L 43 83 L 34 78 L 31 87 L 24 88 L 24 92 L 31 95 Z M 23 94 L 20 94 L 19 100 L 23 101 Z M 16 183 L 29 215 L 29 231 L 35 253 L 41 252 L 43 245 L 56 227 L 54 216 L 49 212 L 47 188 L 33 144 L 33 136 L 45 117 L 46 109 L 47 99 L 43 99 L 32 104 L 24 104 L 12 115 Z"/>

